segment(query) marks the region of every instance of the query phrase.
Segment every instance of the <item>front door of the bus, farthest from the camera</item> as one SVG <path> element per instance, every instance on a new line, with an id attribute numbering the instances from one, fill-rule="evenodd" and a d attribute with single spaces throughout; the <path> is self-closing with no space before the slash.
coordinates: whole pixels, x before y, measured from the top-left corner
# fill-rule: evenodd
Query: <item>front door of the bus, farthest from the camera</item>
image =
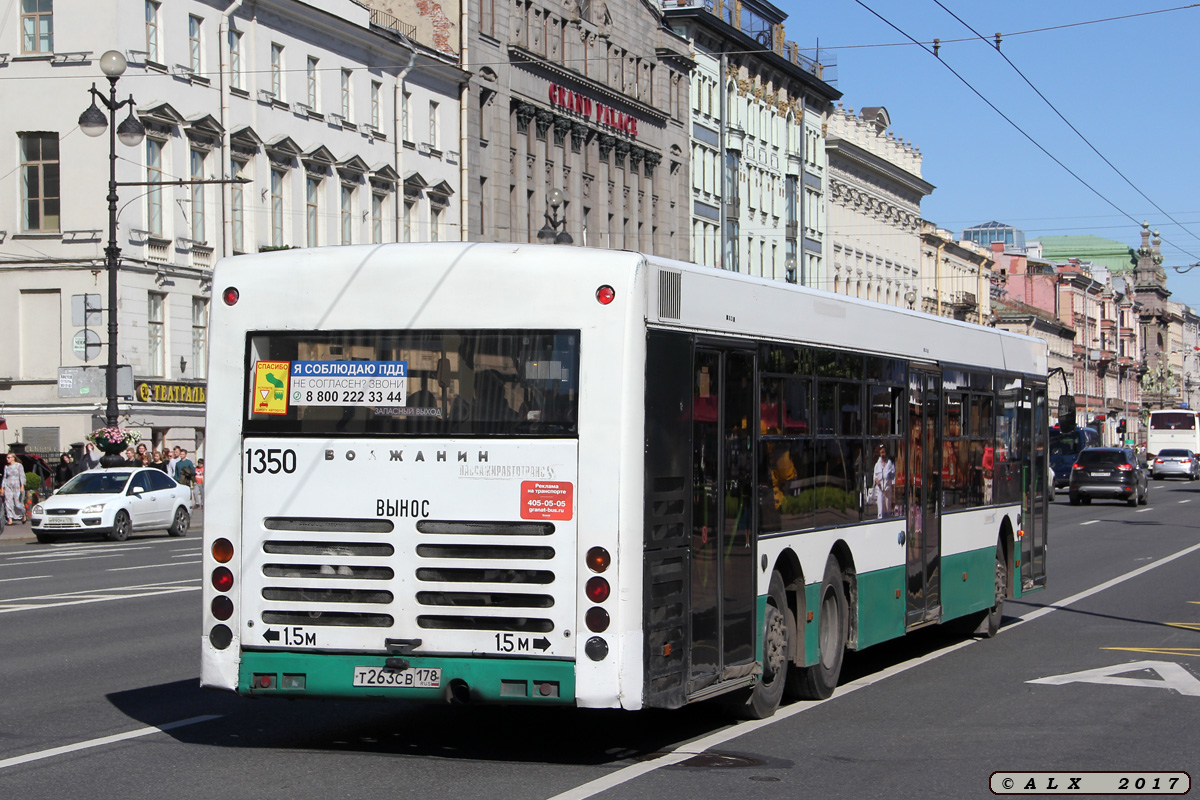
<path id="1" fill-rule="evenodd" d="M 1046 528 L 1050 475 L 1048 463 L 1049 422 L 1046 420 L 1046 387 L 1044 384 L 1026 383 L 1021 413 L 1018 416 L 1016 435 L 1021 438 L 1022 451 L 1033 455 L 1032 463 L 1024 467 L 1021 481 L 1021 589 L 1028 591 L 1046 584 Z"/>

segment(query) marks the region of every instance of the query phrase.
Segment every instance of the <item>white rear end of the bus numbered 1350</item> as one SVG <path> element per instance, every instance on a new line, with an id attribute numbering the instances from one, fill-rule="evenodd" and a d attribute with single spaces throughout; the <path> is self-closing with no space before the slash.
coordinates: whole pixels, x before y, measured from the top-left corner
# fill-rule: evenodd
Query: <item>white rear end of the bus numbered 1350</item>
<path id="1" fill-rule="evenodd" d="M 640 703 L 619 681 L 640 663 L 637 615 L 616 608 L 616 531 L 640 507 L 619 501 L 614 455 L 641 433 L 620 401 L 641 390 L 624 351 L 637 257 L 572 248 L 545 281 L 563 254 L 390 245 L 218 264 L 203 685 Z M 605 399 L 581 415 L 589 391 Z"/>

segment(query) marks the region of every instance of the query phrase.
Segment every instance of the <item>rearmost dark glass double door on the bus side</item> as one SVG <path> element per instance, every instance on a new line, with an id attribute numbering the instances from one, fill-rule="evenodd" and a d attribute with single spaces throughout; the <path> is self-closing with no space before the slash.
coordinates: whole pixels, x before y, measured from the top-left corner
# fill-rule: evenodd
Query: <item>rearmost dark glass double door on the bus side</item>
<path id="1" fill-rule="evenodd" d="M 697 348 L 689 693 L 755 666 L 755 355 Z"/>

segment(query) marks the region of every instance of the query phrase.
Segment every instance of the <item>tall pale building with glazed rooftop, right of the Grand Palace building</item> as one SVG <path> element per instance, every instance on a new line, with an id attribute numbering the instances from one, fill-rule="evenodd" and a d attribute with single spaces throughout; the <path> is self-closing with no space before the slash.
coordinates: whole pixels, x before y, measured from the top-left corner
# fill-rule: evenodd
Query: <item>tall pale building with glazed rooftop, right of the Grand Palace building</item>
<path id="1" fill-rule="evenodd" d="M 841 96 L 769 2 L 665 4 L 692 44 L 691 260 L 810 283 L 824 259 L 823 122 Z"/>

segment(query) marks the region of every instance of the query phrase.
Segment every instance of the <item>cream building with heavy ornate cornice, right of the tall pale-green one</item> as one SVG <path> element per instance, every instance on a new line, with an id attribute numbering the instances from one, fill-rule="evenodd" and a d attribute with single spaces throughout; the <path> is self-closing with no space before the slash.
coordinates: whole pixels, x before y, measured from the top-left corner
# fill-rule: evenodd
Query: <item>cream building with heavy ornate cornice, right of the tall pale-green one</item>
<path id="1" fill-rule="evenodd" d="M 883 107 L 829 116 L 829 251 L 815 285 L 893 306 L 913 307 L 920 285 L 920 151 L 892 131 Z"/>

